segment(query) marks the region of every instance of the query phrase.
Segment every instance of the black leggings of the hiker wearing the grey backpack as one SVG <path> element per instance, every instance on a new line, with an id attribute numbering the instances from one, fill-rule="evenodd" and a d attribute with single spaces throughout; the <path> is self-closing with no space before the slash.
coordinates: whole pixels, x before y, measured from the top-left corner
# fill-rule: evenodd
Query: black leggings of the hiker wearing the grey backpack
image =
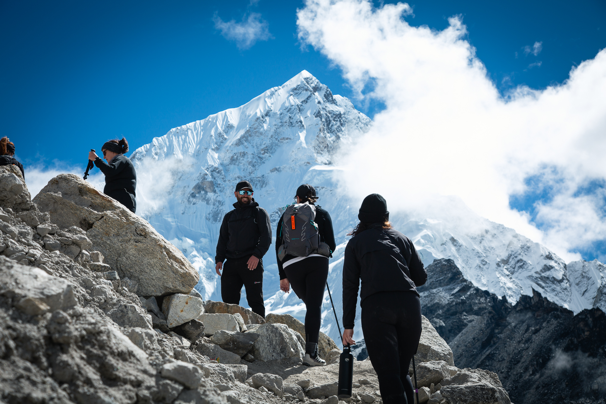
<path id="1" fill-rule="evenodd" d="M 305 303 L 305 342 L 318 343 L 322 322 L 322 299 L 328 277 L 327 257 L 307 257 L 284 268 L 296 295 Z"/>

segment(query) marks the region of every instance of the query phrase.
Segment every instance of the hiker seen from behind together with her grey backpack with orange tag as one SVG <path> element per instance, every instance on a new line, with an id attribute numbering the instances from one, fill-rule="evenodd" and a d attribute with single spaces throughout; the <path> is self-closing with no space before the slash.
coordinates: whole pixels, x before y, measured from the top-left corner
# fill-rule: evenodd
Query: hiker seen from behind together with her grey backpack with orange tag
<path id="1" fill-rule="evenodd" d="M 303 362 L 324 366 L 325 360 L 318 355 L 318 337 L 328 258 L 336 249 L 335 234 L 328 212 L 315 205 L 318 197 L 313 186 L 300 186 L 295 199 L 297 204 L 285 208 L 276 230 L 280 289 L 288 293 L 292 286 L 307 308 Z"/>

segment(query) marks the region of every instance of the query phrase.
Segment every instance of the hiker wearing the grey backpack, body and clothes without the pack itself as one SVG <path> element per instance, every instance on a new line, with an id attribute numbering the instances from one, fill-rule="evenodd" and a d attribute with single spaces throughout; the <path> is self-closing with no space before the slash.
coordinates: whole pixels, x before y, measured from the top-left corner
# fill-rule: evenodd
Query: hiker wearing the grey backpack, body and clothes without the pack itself
<path id="1" fill-rule="evenodd" d="M 336 249 L 335 232 L 333 222 L 326 209 L 316 206 L 318 201 L 316 189 L 310 184 L 303 184 L 297 189 L 295 196 L 297 203 L 307 203 L 315 206 L 314 223 L 318 226 L 318 238 L 320 243 L 328 245 L 327 251 L 322 255 L 319 251 L 311 251 L 305 257 L 295 257 L 286 254 L 280 259 L 279 249 L 283 243 L 284 214 L 278 221 L 276 229 L 276 261 L 278 261 L 278 272 L 280 274 L 280 289 L 289 292 L 293 287 L 295 294 L 305 303 L 305 356 L 303 363 L 308 366 L 324 366 L 326 361 L 318 355 L 318 337 L 322 323 L 322 300 L 324 300 L 324 285 L 328 277 L 328 258 Z M 288 217 L 287 217 L 288 220 Z"/>

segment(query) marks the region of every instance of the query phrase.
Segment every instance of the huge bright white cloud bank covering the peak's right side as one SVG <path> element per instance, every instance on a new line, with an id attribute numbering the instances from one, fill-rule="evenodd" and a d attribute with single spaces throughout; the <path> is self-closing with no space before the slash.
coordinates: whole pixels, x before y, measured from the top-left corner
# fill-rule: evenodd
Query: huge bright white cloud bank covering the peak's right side
<path id="1" fill-rule="evenodd" d="M 571 250 L 606 239 L 604 199 L 578 192 L 606 175 L 606 50 L 562 85 L 517 87 L 503 98 L 459 17 L 432 31 L 409 25 L 408 12 L 407 4 L 375 8 L 366 0 L 307 0 L 298 12 L 302 41 L 341 67 L 362 102 L 375 98 L 386 107 L 345 155 L 344 185 L 362 197 L 383 194 L 390 210 L 427 210 L 436 195 L 458 195 L 567 260 L 578 257 Z M 531 52 L 540 50 L 536 42 Z M 363 96 L 367 84 L 374 89 Z M 562 176 L 544 179 L 561 184 L 536 206 L 539 231 L 509 201 L 546 166 Z"/>

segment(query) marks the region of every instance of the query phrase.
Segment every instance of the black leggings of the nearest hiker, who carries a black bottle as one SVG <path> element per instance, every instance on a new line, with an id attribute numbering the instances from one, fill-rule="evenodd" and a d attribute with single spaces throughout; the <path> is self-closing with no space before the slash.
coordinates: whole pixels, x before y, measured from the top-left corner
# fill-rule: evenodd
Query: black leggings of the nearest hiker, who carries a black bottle
<path id="1" fill-rule="evenodd" d="M 362 302 L 362 332 L 385 404 L 414 403 L 408 375 L 421 338 L 421 301 L 413 292 L 379 292 Z"/>

